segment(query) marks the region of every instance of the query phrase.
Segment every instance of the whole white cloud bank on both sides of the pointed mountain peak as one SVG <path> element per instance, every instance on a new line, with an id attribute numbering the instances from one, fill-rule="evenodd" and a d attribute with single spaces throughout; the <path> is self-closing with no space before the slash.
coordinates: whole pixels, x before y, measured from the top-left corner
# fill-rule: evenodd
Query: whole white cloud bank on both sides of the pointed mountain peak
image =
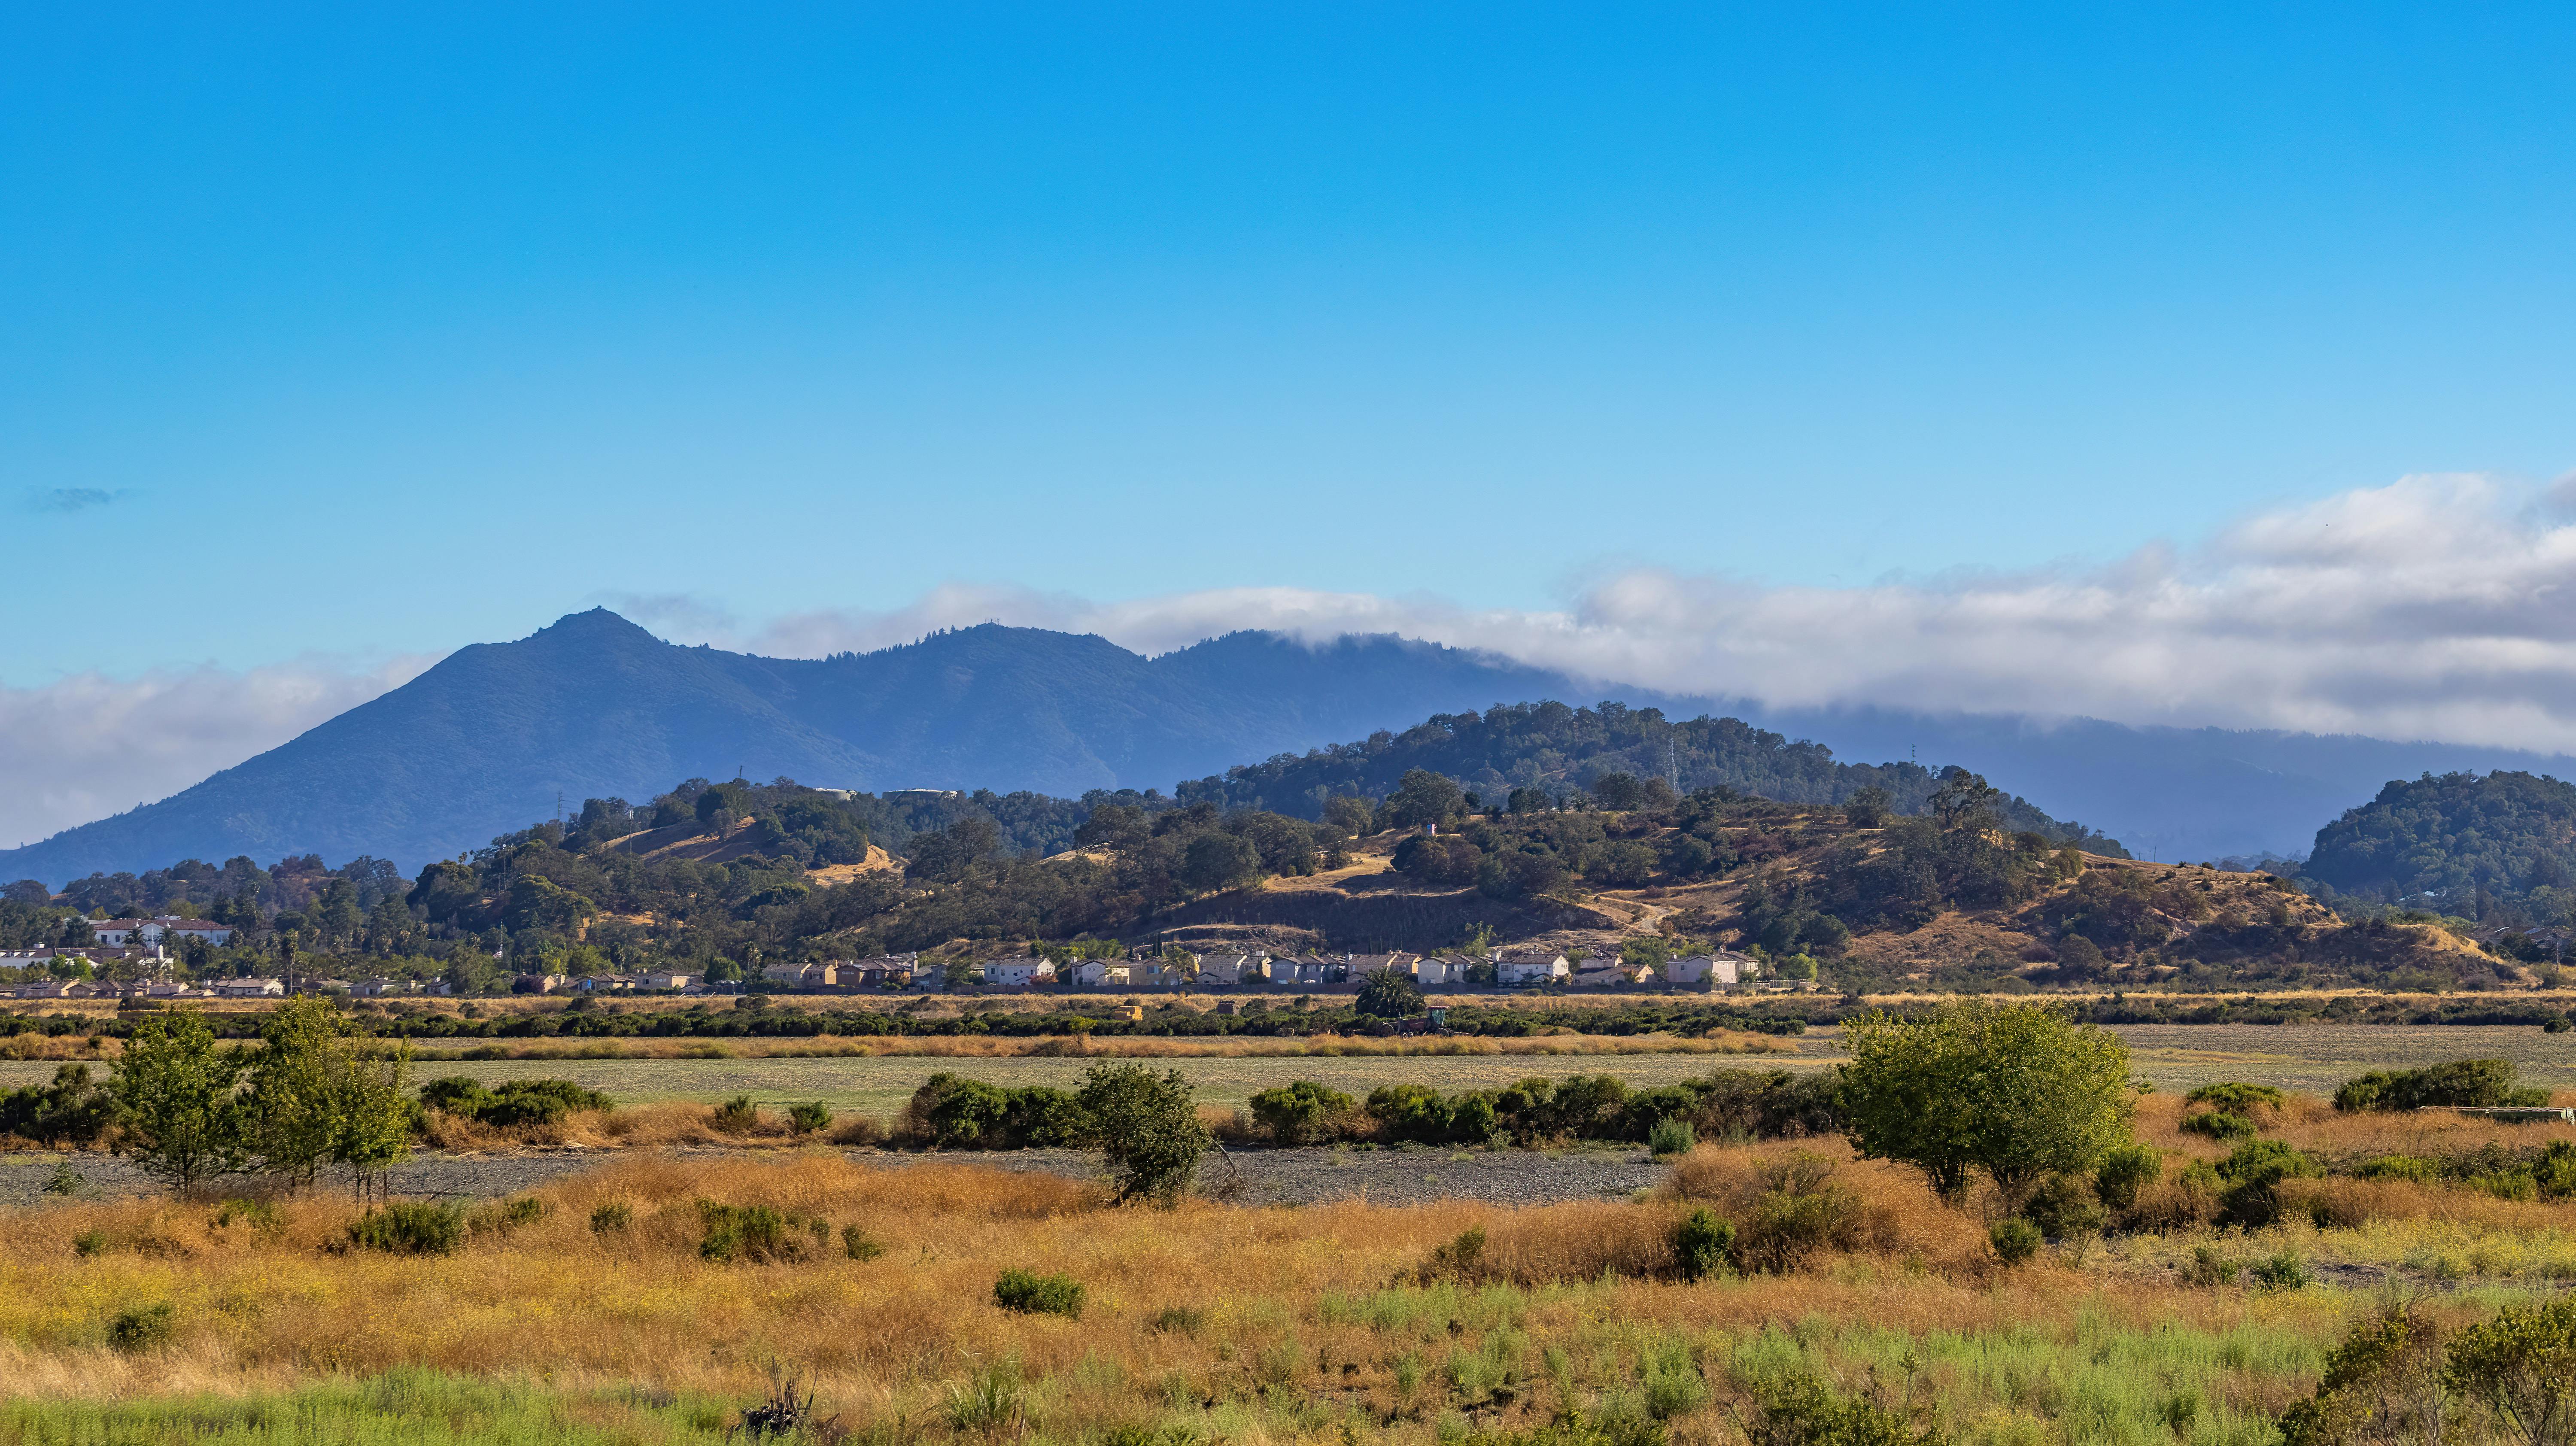
<path id="1" fill-rule="evenodd" d="M 2099 717 L 2576 750 L 2576 479 L 2476 474 L 2257 513 L 2195 549 L 2105 567 L 1868 588 L 1631 570 L 1558 611 L 1229 588 L 1097 603 L 945 585 L 894 611 L 757 624 L 675 595 L 600 595 L 675 642 L 822 657 L 1005 621 L 1167 652 L 1234 629 L 1396 631 L 1538 668 L 1770 706 Z M 0 843 L 157 799 L 286 742 L 430 660 L 312 660 L 0 688 Z"/>

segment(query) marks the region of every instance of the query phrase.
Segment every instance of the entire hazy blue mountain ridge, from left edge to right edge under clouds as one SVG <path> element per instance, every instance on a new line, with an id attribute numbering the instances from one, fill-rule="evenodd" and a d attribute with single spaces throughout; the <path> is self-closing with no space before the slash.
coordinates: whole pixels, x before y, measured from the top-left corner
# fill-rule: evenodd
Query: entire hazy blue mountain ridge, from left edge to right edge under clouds
<path id="1" fill-rule="evenodd" d="M 556 791 L 569 809 L 690 776 L 1061 796 L 1175 789 L 1435 714 L 1543 699 L 1726 714 L 1852 760 L 1919 753 L 2161 858 L 2306 853 L 2321 825 L 2416 773 L 2576 776 L 2576 758 L 2501 747 L 1672 696 L 1391 634 L 1306 644 L 1236 631 L 1141 657 L 1090 634 L 981 624 L 796 660 L 672 644 L 595 608 L 461 647 L 162 802 L 0 851 L 0 879 L 59 884 L 234 853 L 412 869 L 523 827 Z"/>

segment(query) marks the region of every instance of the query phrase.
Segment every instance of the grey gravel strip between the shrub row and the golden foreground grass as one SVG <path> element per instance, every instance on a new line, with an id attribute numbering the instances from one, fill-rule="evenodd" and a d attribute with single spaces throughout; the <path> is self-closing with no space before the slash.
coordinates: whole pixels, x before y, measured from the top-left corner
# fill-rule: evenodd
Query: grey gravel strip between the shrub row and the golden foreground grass
<path id="1" fill-rule="evenodd" d="M 768 1155 L 762 1150 L 672 1150 L 698 1155 Z M 549 1150 L 531 1155 L 415 1155 L 394 1168 L 397 1196 L 505 1196 L 616 1160 L 613 1150 Z M 1097 1162 L 1077 1150 L 1007 1150 L 992 1155 L 907 1155 L 855 1150 L 866 1165 L 904 1168 L 927 1160 L 992 1165 L 999 1170 L 1051 1170 L 1097 1175 Z M 80 1199 L 160 1193 L 142 1170 L 113 1155 L 0 1155 L 0 1206 L 52 1201 L 46 1181 L 70 1162 L 80 1173 Z M 1211 1155 L 1200 1183 L 1236 1204 L 1319 1204 L 1368 1199 L 1427 1204 L 1471 1199 L 1546 1204 L 1625 1199 L 1662 1181 L 1664 1168 L 1643 1150 L 1234 1150 Z"/>

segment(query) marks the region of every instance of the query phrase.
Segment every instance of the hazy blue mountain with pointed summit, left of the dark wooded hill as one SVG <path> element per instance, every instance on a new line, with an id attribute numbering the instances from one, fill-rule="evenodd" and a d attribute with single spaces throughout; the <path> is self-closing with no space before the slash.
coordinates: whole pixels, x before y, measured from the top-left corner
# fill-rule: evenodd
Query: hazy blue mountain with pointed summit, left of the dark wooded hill
<path id="1" fill-rule="evenodd" d="M 0 851 L 0 879 L 361 853 L 415 869 L 585 796 L 677 778 L 842 789 L 1170 789 L 1564 678 L 1468 652 L 1226 637 L 1157 660 L 1097 637 L 974 626 L 770 660 L 675 647 L 608 611 L 477 644 L 157 804 Z"/>

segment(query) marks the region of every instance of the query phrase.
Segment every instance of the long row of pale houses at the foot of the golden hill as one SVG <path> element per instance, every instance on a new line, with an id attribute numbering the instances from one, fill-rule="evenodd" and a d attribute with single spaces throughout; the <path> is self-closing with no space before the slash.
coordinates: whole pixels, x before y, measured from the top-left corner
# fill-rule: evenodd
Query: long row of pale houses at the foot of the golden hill
<path id="1" fill-rule="evenodd" d="M 773 990 L 938 990 L 971 979 L 1002 990 L 1332 990 L 1355 987 L 1360 979 L 1394 969 L 1422 987 L 1461 990 L 1479 987 L 1481 969 L 1492 969 L 1492 982 L 1504 990 L 1530 990 L 1566 985 L 1577 990 L 1636 990 L 1656 985 L 1677 987 L 1739 987 L 1749 985 L 1762 964 L 1749 954 L 1687 954 L 1662 967 L 1623 964 L 1618 959 L 1584 959 L 1582 964 L 1548 949 L 1497 949 L 1486 956 L 1463 954 L 1157 954 L 1144 959 L 1077 959 L 1056 964 L 1015 954 L 984 959 L 979 964 L 925 964 L 917 954 L 889 954 L 881 959 L 829 959 L 819 964 L 770 964 L 762 982 Z"/>

